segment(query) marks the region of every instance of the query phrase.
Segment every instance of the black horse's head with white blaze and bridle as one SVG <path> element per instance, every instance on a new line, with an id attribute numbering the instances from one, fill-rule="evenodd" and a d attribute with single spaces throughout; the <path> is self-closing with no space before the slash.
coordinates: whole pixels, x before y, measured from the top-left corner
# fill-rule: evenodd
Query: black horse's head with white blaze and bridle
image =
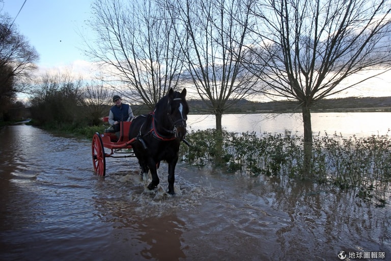
<path id="1" fill-rule="evenodd" d="M 182 92 L 176 92 L 170 89 L 168 96 L 167 114 L 174 125 L 175 136 L 179 140 L 183 140 L 186 135 L 186 120 L 187 114 L 189 113 L 189 106 L 186 101 L 186 88 Z"/>

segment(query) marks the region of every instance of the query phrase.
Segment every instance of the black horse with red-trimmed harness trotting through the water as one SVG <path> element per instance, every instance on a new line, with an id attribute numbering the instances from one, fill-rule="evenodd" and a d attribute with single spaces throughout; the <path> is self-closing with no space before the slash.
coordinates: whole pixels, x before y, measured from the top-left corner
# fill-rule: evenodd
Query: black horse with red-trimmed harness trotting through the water
<path id="1" fill-rule="evenodd" d="M 137 116 L 129 129 L 129 138 L 135 138 L 131 144 L 141 166 L 142 174 L 151 171 L 152 181 L 148 189 L 153 190 L 159 184 L 157 168 L 160 161 L 169 164 L 169 194 L 175 194 L 175 166 L 178 162 L 180 142 L 186 134 L 186 120 L 189 107 L 186 101 L 186 89 L 182 92 L 170 91 L 156 104 L 150 114 Z"/>

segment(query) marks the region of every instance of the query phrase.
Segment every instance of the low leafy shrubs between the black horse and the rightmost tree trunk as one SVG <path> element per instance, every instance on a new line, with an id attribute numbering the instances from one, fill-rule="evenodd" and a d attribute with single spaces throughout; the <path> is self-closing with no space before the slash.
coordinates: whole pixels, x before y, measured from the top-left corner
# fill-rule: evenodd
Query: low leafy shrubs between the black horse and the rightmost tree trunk
<path id="1" fill-rule="evenodd" d="M 180 152 L 183 161 L 193 165 L 204 166 L 222 161 L 230 171 L 255 175 L 280 175 L 288 171 L 289 176 L 299 175 L 292 172 L 292 169 L 299 169 L 297 166 L 301 166 L 302 162 L 302 149 L 297 137 L 270 134 L 259 137 L 255 132 L 236 134 L 227 131 L 218 135 L 214 129 L 207 129 L 192 131 L 186 139 L 191 147 L 182 145 Z"/>

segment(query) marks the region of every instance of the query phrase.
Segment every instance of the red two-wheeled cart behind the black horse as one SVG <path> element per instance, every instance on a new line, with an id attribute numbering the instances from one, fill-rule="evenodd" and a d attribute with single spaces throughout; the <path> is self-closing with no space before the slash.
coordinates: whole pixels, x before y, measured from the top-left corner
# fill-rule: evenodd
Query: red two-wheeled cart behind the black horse
<path id="1" fill-rule="evenodd" d="M 108 117 L 103 117 L 103 122 L 108 122 Z M 106 158 L 129 158 L 134 157 L 131 146 L 133 139 L 129 139 L 131 121 L 121 121 L 119 137 L 116 133 L 106 128 L 103 134 L 95 133 L 92 138 L 92 161 L 94 171 L 104 176 L 106 174 Z M 105 152 L 105 148 L 109 153 Z"/>

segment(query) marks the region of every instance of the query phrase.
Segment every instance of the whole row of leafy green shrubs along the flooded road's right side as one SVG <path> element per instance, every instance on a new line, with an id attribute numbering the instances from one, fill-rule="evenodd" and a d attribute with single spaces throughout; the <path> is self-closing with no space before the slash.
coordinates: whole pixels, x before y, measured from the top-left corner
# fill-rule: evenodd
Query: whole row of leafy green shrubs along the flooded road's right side
<path id="1" fill-rule="evenodd" d="M 284 180 L 304 179 L 303 139 L 285 135 L 235 134 L 215 129 L 190 132 L 192 145 L 181 146 L 182 160 L 194 166 L 218 165 L 228 172 L 267 175 Z M 216 148 L 221 148 L 217 150 Z M 337 134 L 314 137 L 311 176 L 318 184 L 346 190 L 357 197 L 385 203 L 379 195 L 391 180 L 391 139 L 388 135 L 343 138 Z"/>

